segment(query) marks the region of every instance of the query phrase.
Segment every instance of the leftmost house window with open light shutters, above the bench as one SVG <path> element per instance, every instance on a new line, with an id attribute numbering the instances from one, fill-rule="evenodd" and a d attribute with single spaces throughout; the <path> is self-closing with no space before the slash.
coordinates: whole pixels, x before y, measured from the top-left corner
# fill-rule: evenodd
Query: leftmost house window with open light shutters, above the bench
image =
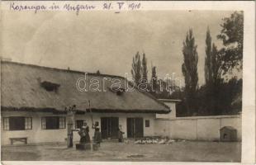
<path id="1" fill-rule="evenodd" d="M 12 116 L 3 118 L 3 130 L 31 130 L 32 118 Z"/>

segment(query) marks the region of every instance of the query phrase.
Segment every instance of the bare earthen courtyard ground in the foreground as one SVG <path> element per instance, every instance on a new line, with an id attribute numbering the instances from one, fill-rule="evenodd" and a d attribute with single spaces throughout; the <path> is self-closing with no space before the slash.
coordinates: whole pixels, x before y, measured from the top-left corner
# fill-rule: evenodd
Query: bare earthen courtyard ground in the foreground
<path id="1" fill-rule="evenodd" d="M 166 161 L 240 162 L 241 143 L 182 141 L 173 144 L 103 142 L 98 151 L 66 148 L 65 144 L 3 146 L 2 161 Z"/>

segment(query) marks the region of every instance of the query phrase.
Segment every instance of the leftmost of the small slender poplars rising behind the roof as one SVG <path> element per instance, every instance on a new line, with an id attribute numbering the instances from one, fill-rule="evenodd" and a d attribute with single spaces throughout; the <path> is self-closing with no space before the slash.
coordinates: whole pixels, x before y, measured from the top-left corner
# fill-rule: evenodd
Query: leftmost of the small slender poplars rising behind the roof
<path id="1" fill-rule="evenodd" d="M 141 61 L 139 52 L 137 52 L 137 54 L 135 54 L 135 57 L 132 58 L 131 66 L 132 69 L 130 72 L 135 81 L 135 86 L 138 87 L 141 78 Z"/>

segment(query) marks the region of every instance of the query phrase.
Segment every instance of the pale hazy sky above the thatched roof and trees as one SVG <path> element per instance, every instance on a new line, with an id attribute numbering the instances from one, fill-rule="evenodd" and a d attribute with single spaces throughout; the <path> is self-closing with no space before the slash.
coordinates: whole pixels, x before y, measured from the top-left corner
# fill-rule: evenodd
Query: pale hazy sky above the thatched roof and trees
<path id="1" fill-rule="evenodd" d="M 145 53 L 159 78 L 183 78 L 183 40 L 192 28 L 199 84 L 204 83 L 206 29 L 219 47 L 222 18 L 232 11 L 2 12 L 2 57 L 83 72 L 125 76 L 132 58 Z"/>

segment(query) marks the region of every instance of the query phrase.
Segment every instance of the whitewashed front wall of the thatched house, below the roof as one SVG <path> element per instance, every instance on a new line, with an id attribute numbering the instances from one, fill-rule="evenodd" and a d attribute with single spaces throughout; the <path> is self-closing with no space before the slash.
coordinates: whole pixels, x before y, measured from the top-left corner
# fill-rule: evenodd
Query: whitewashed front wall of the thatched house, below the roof
<path id="1" fill-rule="evenodd" d="M 3 117 L 9 116 L 25 116 L 32 117 L 32 130 L 3 130 Z M 1 144 L 10 144 L 10 138 L 21 138 L 27 137 L 28 144 L 46 143 L 46 142 L 65 142 L 67 138 L 67 118 L 66 128 L 59 130 L 42 130 L 41 128 L 41 117 L 43 116 L 66 116 L 66 115 L 53 115 L 52 113 L 42 112 L 26 112 L 26 111 L 2 111 L 1 119 Z M 119 125 L 122 126 L 122 131 L 125 132 L 124 138 L 127 137 L 126 119 L 127 117 L 143 117 L 143 127 L 145 136 L 154 136 L 154 119 L 155 114 L 147 113 L 92 113 L 93 122 L 98 121 L 101 123 L 101 117 L 118 117 Z M 91 115 L 75 115 L 75 120 L 86 120 L 90 128 L 90 138 L 94 134 L 92 130 Z M 145 120 L 149 120 L 149 127 L 145 127 Z M 101 125 L 101 124 L 100 124 Z M 78 141 L 78 132 L 73 132 L 73 141 Z"/>

